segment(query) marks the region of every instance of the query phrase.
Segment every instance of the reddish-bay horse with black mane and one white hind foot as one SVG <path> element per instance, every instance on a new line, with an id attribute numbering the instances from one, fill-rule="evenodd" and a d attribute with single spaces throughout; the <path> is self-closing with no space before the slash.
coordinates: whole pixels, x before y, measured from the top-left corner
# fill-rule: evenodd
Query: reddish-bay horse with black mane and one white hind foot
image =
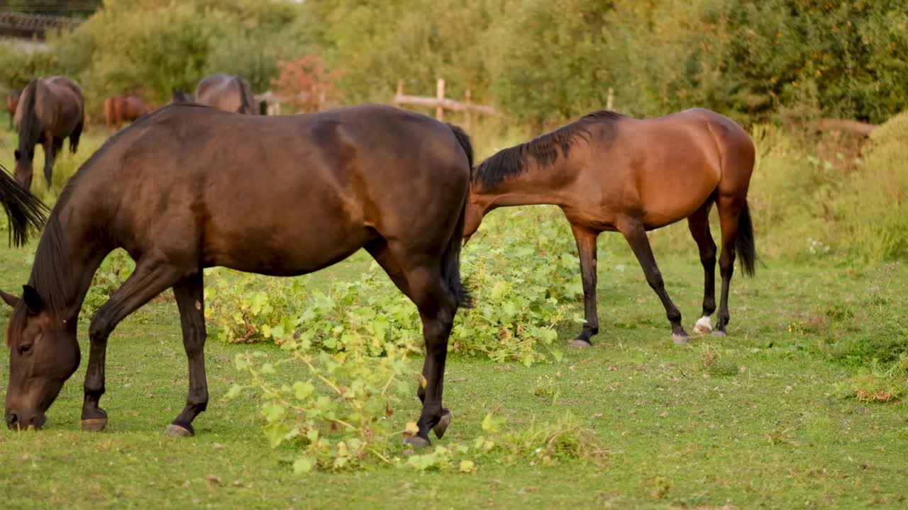
<path id="1" fill-rule="evenodd" d="M 713 334 L 725 336 L 735 250 L 745 273 L 754 273 L 754 231 L 747 206 L 754 158 L 747 132 L 709 110 L 646 120 L 614 112 L 589 113 L 479 164 L 470 183 L 464 241 L 476 232 L 483 216 L 498 207 L 558 205 L 570 223 L 580 258 L 586 323 L 570 344 L 582 348 L 589 347 L 598 332 L 597 237 L 603 231 L 621 232 L 666 309 L 672 338 L 684 344 L 688 336 L 681 312 L 666 293 L 646 231 L 687 219 L 706 273 L 703 316 L 694 330 L 713 331 L 716 243 L 709 230 L 709 211 L 715 203 L 722 230 L 722 300 Z"/>

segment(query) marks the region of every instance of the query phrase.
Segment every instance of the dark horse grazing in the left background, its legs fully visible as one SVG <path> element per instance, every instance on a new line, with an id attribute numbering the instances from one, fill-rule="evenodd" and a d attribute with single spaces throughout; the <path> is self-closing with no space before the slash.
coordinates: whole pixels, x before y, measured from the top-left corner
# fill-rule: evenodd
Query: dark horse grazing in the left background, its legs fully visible
<path id="1" fill-rule="evenodd" d="M 22 91 L 15 122 L 19 126 L 19 148 L 15 151 L 15 180 L 32 187 L 32 160 L 35 145 L 44 146 L 44 178 L 51 185 L 54 160 L 69 137 L 69 150 L 79 148 L 84 126 L 85 102 L 82 89 L 69 78 L 37 78 Z"/>

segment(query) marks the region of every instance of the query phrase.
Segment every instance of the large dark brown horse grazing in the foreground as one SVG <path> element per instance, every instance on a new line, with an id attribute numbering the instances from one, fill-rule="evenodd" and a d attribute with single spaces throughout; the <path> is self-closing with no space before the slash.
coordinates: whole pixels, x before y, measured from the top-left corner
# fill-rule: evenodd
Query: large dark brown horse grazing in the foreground
<path id="1" fill-rule="evenodd" d="M 41 427 L 79 365 L 76 327 L 92 276 L 116 248 L 133 274 L 91 321 L 83 428 L 101 430 L 107 338 L 173 288 L 189 396 L 166 433 L 191 436 L 208 404 L 202 270 L 296 276 L 364 248 L 419 309 L 426 359 L 415 446 L 444 434 L 448 337 L 459 307 L 460 233 L 472 148 L 458 127 L 390 106 L 264 117 L 171 104 L 118 132 L 67 183 L 7 329 L 5 418 Z"/>

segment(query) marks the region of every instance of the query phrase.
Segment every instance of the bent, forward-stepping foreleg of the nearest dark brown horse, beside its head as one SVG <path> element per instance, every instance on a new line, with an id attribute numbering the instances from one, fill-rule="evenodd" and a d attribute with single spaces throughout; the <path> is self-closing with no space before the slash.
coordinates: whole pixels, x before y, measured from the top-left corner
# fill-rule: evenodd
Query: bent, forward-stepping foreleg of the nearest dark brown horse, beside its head
<path id="1" fill-rule="evenodd" d="M 143 258 L 138 261 L 133 274 L 123 282 L 123 286 L 94 314 L 88 329 L 91 348 L 85 371 L 83 430 L 96 432 L 107 426 L 107 413 L 99 407 L 101 396 L 104 395 L 107 338 L 121 320 L 179 280 L 178 274 L 173 266 L 161 259 Z"/>

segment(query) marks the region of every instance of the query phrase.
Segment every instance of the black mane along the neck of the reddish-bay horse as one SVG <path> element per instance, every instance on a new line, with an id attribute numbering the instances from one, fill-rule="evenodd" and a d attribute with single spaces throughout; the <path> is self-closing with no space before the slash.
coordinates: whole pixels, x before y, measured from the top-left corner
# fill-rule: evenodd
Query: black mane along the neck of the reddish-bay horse
<path id="1" fill-rule="evenodd" d="M 479 163 L 476 172 L 473 172 L 473 182 L 488 188 L 512 175 L 523 173 L 526 171 L 528 156 L 532 156 L 539 166 L 548 166 L 558 161 L 559 148 L 561 154 L 568 157 L 568 151 L 577 138 L 588 140 L 588 128 L 591 124 L 613 123 L 623 118 L 624 115 L 607 110 L 588 113 L 575 123 L 561 126 L 529 142 L 498 151 L 486 161 Z"/>

